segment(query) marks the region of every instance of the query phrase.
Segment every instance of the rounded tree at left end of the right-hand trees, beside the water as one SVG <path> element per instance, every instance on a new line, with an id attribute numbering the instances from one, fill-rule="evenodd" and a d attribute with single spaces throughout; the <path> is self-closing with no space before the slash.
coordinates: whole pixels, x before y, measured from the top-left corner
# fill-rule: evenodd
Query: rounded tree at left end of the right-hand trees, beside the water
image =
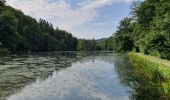
<path id="1" fill-rule="evenodd" d="M 120 22 L 120 26 L 118 27 L 117 32 L 115 33 L 115 47 L 114 50 L 118 52 L 127 52 L 133 49 L 134 43 L 132 36 L 133 27 L 132 27 L 132 19 L 124 18 Z"/>

